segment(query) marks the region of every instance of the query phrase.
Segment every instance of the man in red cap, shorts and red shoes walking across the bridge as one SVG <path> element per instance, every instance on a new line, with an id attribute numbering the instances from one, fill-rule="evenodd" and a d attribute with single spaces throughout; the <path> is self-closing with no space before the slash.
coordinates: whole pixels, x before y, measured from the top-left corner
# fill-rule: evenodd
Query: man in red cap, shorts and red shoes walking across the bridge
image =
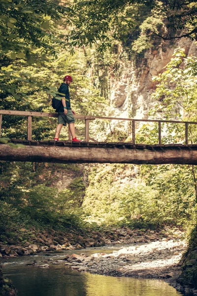
<path id="1" fill-rule="evenodd" d="M 70 95 L 69 95 L 69 85 L 72 82 L 72 77 L 69 75 L 66 75 L 64 78 L 64 82 L 61 84 L 59 88 L 59 92 L 64 95 L 59 95 L 62 97 L 62 104 L 60 104 L 60 108 L 56 109 L 56 112 L 58 112 L 58 125 L 56 127 L 56 133 L 55 133 L 55 141 L 59 141 L 59 135 L 61 132 L 61 129 L 64 126 L 66 126 L 66 123 L 69 126 L 69 130 L 72 136 L 72 142 L 81 142 L 81 140 L 78 140 L 75 135 L 75 127 L 74 127 L 74 116 L 75 111 L 71 110 L 70 107 Z"/>

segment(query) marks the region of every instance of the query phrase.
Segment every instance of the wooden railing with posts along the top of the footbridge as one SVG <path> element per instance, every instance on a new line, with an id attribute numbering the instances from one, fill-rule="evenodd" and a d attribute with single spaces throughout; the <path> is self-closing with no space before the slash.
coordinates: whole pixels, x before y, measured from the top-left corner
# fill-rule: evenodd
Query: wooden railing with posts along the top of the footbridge
<path id="1" fill-rule="evenodd" d="M 6 115 L 20 115 L 28 116 L 28 140 L 32 140 L 32 116 L 39 117 L 58 117 L 57 113 L 45 113 L 45 112 L 30 112 L 30 111 L 12 111 L 12 110 L 0 110 L 0 135 L 1 135 L 1 124 L 2 116 Z M 110 119 L 110 120 L 121 120 L 132 122 L 132 143 L 135 144 L 135 122 L 158 122 L 158 144 L 162 145 L 162 127 L 161 123 L 180 123 L 185 125 L 185 145 L 188 145 L 188 125 L 197 124 L 195 121 L 176 121 L 176 120 L 157 120 L 157 119 L 132 119 L 132 118 L 120 118 L 120 117 L 103 117 L 103 116 L 89 116 L 89 115 L 74 115 L 76 119 L 85 120 L 85 142 L 89 140 L 98 142 L 89 135 L 90 120 L 94 119 Z M 71 134 L 68 129 L 68 140 L 71 140 Z"/>

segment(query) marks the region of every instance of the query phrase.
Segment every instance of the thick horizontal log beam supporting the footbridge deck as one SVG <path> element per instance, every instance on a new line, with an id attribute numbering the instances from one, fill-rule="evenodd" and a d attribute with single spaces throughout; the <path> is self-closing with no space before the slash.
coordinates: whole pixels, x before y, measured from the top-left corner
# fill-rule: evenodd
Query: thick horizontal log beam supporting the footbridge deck
<path id="1" fill-rule="evenodd" d="M 56 163 L 194 164 L 196 147 L 74 147 L 31 146 L 12 148 L 0 144 L 0 160 Z"/>

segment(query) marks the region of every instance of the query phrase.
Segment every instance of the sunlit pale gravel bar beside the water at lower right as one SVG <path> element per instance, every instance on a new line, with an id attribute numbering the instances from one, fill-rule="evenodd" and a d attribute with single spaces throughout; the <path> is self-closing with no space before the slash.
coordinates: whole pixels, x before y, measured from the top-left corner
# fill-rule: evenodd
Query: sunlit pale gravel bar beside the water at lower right
<path id="1" fill-rule="evenodd" d="M 182 240 L 155 241 L 127 246 L 110 254 L 67 255 L 65 265 L 78 271 L 102 275 L 140 278 L 177 278 L 181 273 L 181 258 L 186 250 Z M 54 261 L 53 264 L 60 262 Z"/>

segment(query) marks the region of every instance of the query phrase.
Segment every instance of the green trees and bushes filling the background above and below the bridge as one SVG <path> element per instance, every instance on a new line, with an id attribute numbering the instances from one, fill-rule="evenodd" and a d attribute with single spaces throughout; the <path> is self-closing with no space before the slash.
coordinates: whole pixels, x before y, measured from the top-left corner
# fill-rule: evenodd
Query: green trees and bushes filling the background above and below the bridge
<path id="1" fill-rule="evenodd" d="M 110 81 L 119 79 L 128 61 L 132 59 L 139 69 L 147 49 L 161 48 L 161 38 L 196 38 L 197 7 L 190 1 L 164 5 L 163 1 L 100 0 L 63 5 L 54 0 L 3 0 L 0 5 L 0 109 L 53 111 L 51 98 L 65 74 L 70 74 L 73 109 L 111 115 Z M 150 114 L 196 121 L 196 74 L 196 58 L 184 59 L 184 51 L 176 49 L 164 72 L 154 77 L 156 104 Z M 1 136 L 26 139 L 26 124 L 26 117 L 3 116 Z M 55 126 L 54 118 L 33 118 L 33 140 L 53 139 Z M 155 143 L 157 128 L 154 124 L 140 127 L 137 143 Z M 129 124 L 112 126 L 95 120 L 90 129 L 98 140 L 131 140 Z M 83 136 L 82 121 L 76 123 L 76 131 Z M 162 126 L 162 131 L 163 143 L 184 143 L 184 124 Z M 66 129 L 61 137 L 67 138 Z M 197 140 L 193 125 L 189 140 Z M 0 231 L 6 240 L 21 225 L 192 227 L 196 175 L 194 166 L 86 165 L 81 169 L 1 162 Z"/>

